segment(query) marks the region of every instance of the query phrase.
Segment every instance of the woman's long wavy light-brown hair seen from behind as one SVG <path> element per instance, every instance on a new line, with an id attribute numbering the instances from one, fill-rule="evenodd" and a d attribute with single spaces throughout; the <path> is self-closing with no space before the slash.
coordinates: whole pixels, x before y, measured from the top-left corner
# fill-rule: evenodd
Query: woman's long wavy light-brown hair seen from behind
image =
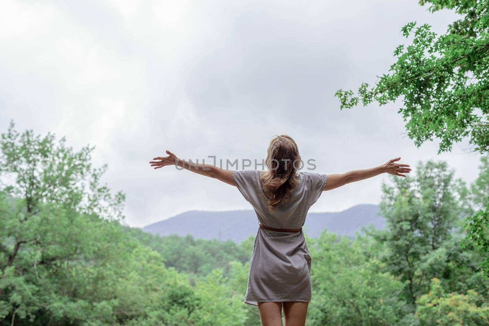
<path id="1" fill-rule="evenodd" d="M 265 164 L 268 169 L 260 176 L 268 207 L 275 210 L 290 200 L 290 191 L 299 183 L 297 167 L 301 164 L 297 144 L 289 135 L 273 136 L 267 149 Z"/>

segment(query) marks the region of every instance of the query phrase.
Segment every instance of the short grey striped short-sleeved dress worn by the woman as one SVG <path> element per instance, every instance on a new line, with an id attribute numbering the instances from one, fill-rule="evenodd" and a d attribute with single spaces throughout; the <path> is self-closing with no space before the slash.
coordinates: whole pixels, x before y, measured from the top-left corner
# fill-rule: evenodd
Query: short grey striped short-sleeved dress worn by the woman
<path id="1" fill-rule="evenodd" d="M 327 174 L 296 172 L 299 183 L 291 198 L 275 211 L 268 208 L 260 183 L 260 170 L 233 170 L 233 180 L 265 226 L 298 229 L 326 185 Z M 302 229 L 271 231 L 258 227 L 249 265 L 244 303 L 311 301 L 311 256 Z"/>

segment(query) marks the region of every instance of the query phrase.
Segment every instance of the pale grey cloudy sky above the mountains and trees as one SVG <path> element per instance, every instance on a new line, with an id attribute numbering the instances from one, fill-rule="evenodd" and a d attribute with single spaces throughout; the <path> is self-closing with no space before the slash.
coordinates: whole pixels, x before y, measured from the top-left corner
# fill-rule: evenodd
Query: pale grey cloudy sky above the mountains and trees
<path id="1" fill-rule="evenodd" d="M 373 84 L 407 44 L 400 28 L 456 19 L 417 0 L 2 1 L 0 131 L 66 136 L 115 193 L 126 223 L 144 226 L 188 210 L 251 209 L 228 184 L 149 161 L 265 158 L 289 134 L 315 172 L 343 173 L 401 157 L 445 160 L 472 182 L 480 156 L 468 140 L 437 155 L 405 136 L 400 102 L 340 110 L 340 88 Z M 241 166 L 239 166 L 241 168 Z M 260 167 L 259 167 L 260 168 Z M 378 204 L 390 175 L 325 192 L 311 211 Z"/>

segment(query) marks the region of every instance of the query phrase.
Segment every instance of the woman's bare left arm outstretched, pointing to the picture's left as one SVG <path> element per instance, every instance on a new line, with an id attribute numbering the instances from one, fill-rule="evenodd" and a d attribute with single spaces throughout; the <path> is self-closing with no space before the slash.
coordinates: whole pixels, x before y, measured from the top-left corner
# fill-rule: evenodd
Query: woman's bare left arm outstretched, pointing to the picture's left
<path id="1" fill-rule="evenodd" d="M 233 180 L 232 170 L 225 170 L 212 164 L 202 164 L 202 163 L 190 164 L 189 162 L 185 162 L 185 160 L 179 159 L 175 154 L 173 154 L 169 150 L 166 151 L 166 154 L 168 154 L 168 156 L 155 157 L 153 160 L 158 160 L 158 161 L 150 161 L 151 166 L 155 166 L 155 169 L 158 169 L 166 165 L 177 165 L 179 167 L 185 168 L 189 171 L 201 174 L 203 176 L 215 178 L 217 180 L 221 180 L 224 183 L 236 186 Z"/>

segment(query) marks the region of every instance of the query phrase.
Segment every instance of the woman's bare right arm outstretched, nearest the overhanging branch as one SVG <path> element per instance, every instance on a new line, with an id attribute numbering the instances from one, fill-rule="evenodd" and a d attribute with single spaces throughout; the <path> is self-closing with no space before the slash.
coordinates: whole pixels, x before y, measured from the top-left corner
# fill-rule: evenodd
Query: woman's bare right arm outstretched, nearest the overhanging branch
<path id="1" fill-rule="evenodd" d="M 347 183 L 372 178 L 384 172 L 405 177 L 405 175 L 401 173 L 409 173 L 411 168 L 408 164 L 394 163 L 399 160 L 400 157 L 389 160 L 387 163 L 372 167 L 370 169 L 352 170 L 341 174 L 328 174 L 328 181 L 326 182 L 326 186 L 323 190 L 331 190 Z"/>

